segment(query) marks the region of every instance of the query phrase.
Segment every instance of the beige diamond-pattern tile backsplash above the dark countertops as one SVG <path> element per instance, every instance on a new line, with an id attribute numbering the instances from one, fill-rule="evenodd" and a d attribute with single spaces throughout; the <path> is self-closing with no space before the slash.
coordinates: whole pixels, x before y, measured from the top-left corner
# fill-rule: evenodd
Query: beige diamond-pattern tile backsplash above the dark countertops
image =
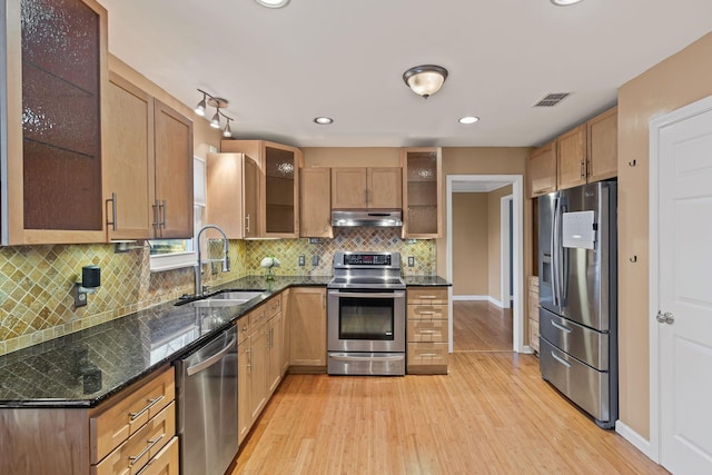
<path id="1" fill-rule="evenodd" d="M 334 239 L 231 240 L 231 269 L 212 274 L 207 265 L 205 285 L 219 285 L 246 275 L 260 275 L 259 261 L 277 257 L 277 275 L 332 274 L 336 250 L 397 250 L 404 275 L 435 273 L 435 241 L 403 240 L 398 229 L 335 230 Z M 298 266 L 298 256 L 305 266 Z M 208 256 L 221 257 L 219 240 L 209 241 Z M 313 266 L 314 256 L 318 257 Z M 415 266 L 407 267 L 407 257 Z M 51 245 L 0 247 L 0 355 L 79 331 L 164 301 L 194 293 L 192 268 L 151 273 L 148 247 L 115 254 L 113 245 Z M 81 267 L 101 267 L 101 287 L 85 307 L 73 308 L 72 286 Z"/>

